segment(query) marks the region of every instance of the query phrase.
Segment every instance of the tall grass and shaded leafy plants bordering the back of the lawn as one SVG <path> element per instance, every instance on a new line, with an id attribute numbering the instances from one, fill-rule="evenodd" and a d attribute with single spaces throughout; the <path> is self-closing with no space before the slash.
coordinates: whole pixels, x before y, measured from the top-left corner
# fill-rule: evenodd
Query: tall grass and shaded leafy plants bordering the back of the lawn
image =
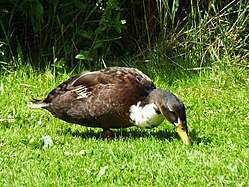
<path id="1" fill-rule="evenodd" d="M 1 0 L 0 65 L 248 67 L 248 0 Z"/>

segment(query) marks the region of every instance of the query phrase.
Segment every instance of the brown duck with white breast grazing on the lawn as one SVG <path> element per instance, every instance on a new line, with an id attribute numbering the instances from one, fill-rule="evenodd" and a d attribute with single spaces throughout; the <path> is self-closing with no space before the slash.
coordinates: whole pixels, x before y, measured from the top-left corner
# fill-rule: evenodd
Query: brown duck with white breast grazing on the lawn
<path id="1" fill-rule="evenodd" d="M 154 128 L 167 119 L 184 144 L 190 145 L 185 106 L 173 93 L 156 88 L 136 68 L 108 67 L 73 76 L 53 89 L 45 99 L 33 100 L 31 108 L 43 108 L 68 123 L 103 129 L 137 126 Z"/>

